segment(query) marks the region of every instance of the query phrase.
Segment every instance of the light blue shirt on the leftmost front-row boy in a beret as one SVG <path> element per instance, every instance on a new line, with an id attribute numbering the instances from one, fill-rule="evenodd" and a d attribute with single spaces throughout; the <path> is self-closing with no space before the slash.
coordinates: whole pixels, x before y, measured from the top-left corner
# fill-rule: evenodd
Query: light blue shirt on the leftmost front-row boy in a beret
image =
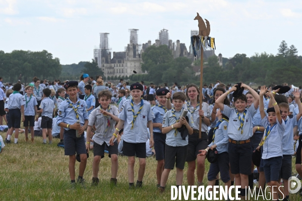
<path id="1" fill-rule="evenodd" d="M 84 121 L 88 120 L 88 113 L 87 113 L 87 105 L 84 100 L 77 99 L 76 103 L 73 103 L 72 101 L 71 104 L 74 106 L 74 108 L 77 108 L 78 102 L 80 101 L 80 106 L 78 107 L 78 116 L 80 120 L 81 126 L 84 125 Z M 75 124 L 77 122 L 77 117 L 76 117 L 76 112 L 75 110 L 69 105 L 67 100 L 63 101 L 59 107 L 58 107 L 58 115 L 57 115 L 57 125 L 61 122 L 67 123 L 67 124 Z M 69 130 L 69 128 L 64 128 L 66 130 Z"/>

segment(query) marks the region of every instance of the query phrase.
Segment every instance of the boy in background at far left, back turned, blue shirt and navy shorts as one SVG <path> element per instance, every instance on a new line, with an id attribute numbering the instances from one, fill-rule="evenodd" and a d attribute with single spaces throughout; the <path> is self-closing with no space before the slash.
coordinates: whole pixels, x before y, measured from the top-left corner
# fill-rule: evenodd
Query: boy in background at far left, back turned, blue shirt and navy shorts
<path id="1" fill-rule="evenodd" d="M 19 137 L 19 128 L 21 124 L 21 115 L 22 121 L 25 120 L 24 117 L 24 105 L 25 100 L 24 97 L 19 93 L 21 90 L 22 85 L 20 83 L 16 83 L 14 85 L 14 92 L 10 95 L 9 100 L 9 113 L 10 113 L 10 120 L 12 123 L 12 128 L 10 129 L 7 142 L 11 143 L 11 137 L 13 135 L 13 131 L 15 130 L 15 144 L 18 144 L 18 137 Z"/>

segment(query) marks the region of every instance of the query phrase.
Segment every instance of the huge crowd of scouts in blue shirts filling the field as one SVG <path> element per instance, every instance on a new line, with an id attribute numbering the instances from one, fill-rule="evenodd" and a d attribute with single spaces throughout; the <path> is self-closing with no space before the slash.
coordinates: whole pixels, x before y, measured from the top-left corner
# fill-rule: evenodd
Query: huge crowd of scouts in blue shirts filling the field
<path id="1" fill-rule="evenodd" d="M 128 157 L 129 188 L 142 187 L 146 157 L 155 155 L 156 177 L 160 192 L 165 191 L 169 173 L 176 167 L 176 186 L 183 185 L 188 163 L 189 185 L 204 185 L 206 156 L 211 163 L 208 185 L 240 185 L 245 199 L 253 188 L 255 166 L 259 172 L 258 190 L 268 186 L 283 188 L 273 199 L 285 195 L 289 200 L 288 179 L 292 156 L 302 176 L 302 105 L 301 87 L 272 84 L 252 89 L 244 83 L 225 85 L 217 81 L 200 88 L 174 83 L 168 87 L 130 85 L 124 80 L 114 86 L 83 74 L 77 81 L 47 80 L 37 77 L 28 86 L 20 81 L 4 86 L 0 78 L 0 124 L 6 121 L 5 142 L 12 135 L 18 143 L 21 121 L 25 141 L 43 138 L 43 144 L 60 138 L 58 146 L 69 156 L 72 185 L 76 182 L 75 164 L 80 162 L 77 182 L 84 183 L 87 153 L 93 149 L 92 184 L 99 183 L 101 159 L 111 159 L 110 181 L 117 183 L 118 155 Z M 200 93 L 203 100 L 200 101 Z M 188 111 L 186 113 L 186 111 Z M 200 121 L 201 118 L 201 121 Z M 113 134 L 112 134 L 113 133 Z M 92 145 L 93 143 L 93 145 Z M 146 144 L 147 143 L 147 144 Z M 1 150 L 0 150 L 1 153 Z M 135 157 L 139 158 L 136 184 Z M 282 197 L 282 196 L 281 196 Z"/>

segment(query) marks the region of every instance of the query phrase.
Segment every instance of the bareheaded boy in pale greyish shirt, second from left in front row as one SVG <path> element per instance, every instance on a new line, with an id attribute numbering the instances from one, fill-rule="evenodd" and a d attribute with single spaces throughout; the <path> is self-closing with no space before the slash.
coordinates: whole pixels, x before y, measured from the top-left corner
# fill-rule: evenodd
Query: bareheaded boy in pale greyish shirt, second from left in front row
<path id="1" fill-rule="evenodd" d="M 87 86 L 87 85 L 86 85 Z M 86 87 L 85 86 L 85 87 Z M 118 109 L 114 105 L 110 105 L 112 94 L 108 90 L 103 90 L 98 94 L 98 100 L 100 106 L 91 112 L 89 115 L 89 122 L 87 128 L 87 140 L 86 149 L 90 149 L 90 135 L 93 125 L 95 125 L 95 135 L 93 142 L 93 163 L 92 163 L 92 184 L 97 185 L 99 183 L 98 172 L 99 164 L 102 158 L 104 158 L 105 147 L 108 150 L 109 158 L 111 158 L 111 178 L 110 181 L 115 185 L 117 183 L 116 175 L 118 169 L 118 145 L 117 142 L 113 142 L 113 146 L 109 144 L 114 131 L 115 122 L 118 122 Z"/>

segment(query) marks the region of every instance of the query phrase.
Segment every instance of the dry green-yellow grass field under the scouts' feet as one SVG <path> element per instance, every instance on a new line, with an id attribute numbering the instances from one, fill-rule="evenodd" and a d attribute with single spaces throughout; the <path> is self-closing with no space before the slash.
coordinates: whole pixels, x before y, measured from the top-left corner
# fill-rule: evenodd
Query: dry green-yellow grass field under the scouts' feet
<path id="1" fill-rule="evenodd" d="M 6 133 L 0 134 L 5 139 Z M 170 185 L 175 185 L 176 170 L 172 170 L 169 175 L 166 192 L 159 193 L 156 188 L 154 157 L 147 158 L 143 188 L 129 190 L 127 157 L 118 158 L 117 186 L 114 186 L 109 182 L 111 163 L 106 155 L 100 163 L 100 183 L 93 187 L 90 185 L 93 152 L 90 151 L 84 174 L 85 188 L 76 185 L 76 188 L 72 189 L 68 157 L 64 156 L 64 149 L 56 147 L 59 140 L 54 139 L 52 145 L 42 145 L 42 138 L 36 137 L 34 144 L 25 142 L 24 139 L 24 133 L 20 134 L 19 144 L 7 145 L 0 154 L 0 200 L 171 200 Z M 77 162 L 76 175 L 78 168 Z M 205 184 L 208 169 L 209 163 L 206 162 Z M 138 159 L 135 165 L 135 180 L 137 172 Z M 187 185 L 187 164 L 184 172 L 184 185 Z M 290 195 L 290 200 L 300 199 L 298 195 Z"/>

